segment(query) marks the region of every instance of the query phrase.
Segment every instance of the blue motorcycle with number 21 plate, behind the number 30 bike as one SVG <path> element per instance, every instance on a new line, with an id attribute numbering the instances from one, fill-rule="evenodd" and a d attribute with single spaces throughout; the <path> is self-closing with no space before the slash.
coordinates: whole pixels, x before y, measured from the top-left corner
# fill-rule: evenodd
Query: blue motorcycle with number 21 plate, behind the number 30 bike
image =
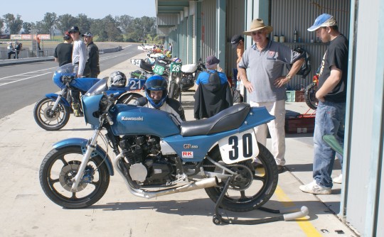
<path id="1" fill-rule="evenodd" d="M 100 82 L 98 78 L 76 78 L 78 65 L 69 63 L 58 68 L 53 74 L 53 83 L 60 87 L 59 94 L 46 94 L 46 97 L 40 99 L 33 108 L 33 117 L 36 123 L 41 128 L 47 131 L 55 131 L 63 128 L 69 121 L 71 104 L 65 98 L 69 90 L 80 91 L 85 94 L 94 84 Z M 132 84 L 134 83 L 134 84 Z M 141 94 L 129 92 L 136 88 L 137 84 L 144 86 L 145 80 L 138 79 L 132 81 L 127 87 L 113 87 L 107 94 L 113 94 L 119 101 L 124 104 L 130 104 L 136 101 L 137 98 L 142 97 Z"/>

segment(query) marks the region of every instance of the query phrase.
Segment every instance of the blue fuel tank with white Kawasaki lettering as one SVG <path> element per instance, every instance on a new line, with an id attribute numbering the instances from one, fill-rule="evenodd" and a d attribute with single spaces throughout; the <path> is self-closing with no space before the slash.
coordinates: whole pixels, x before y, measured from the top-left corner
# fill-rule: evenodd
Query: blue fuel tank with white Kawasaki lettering
<path id="1" fill-rule="evenodd" d="M 149 134 L 164 138 L 180 133 L 172 115 L 159 109 L 117 104 L 111 111 L 114 135 Z"/>

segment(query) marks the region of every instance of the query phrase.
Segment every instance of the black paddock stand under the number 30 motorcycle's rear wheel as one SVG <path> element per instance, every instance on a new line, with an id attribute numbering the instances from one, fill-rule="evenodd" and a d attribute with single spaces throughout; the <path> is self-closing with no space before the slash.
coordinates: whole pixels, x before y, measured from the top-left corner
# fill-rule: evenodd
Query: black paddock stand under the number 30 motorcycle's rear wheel
<path id="1" fill-rule="evenodd" d="M 269 213 L 282 214 L 282 215 L 276 216 L 276 217 L 268 217 L 265 219 L 255 219 L 255 220 L 234 220 L 234 219 L 229 219 L 229 218 L 223 219 L 223 217 L 219 214 L 218 210 L 219 210 L 219 206 L 220 206 L 221 202 L 223 202 L 225 192 L 227 192 L 227 190 L 230 186 L 231 180 L 232 180 L 232 177 L 229 177 L 227 182 L 225 183 L 223 192 L 221 192 L 220 197 L 218 198 L 218 201 L 215 204 L 215 214 L 213 215 L 213 220 L 212 220 L 215 225 L 220 225 L 222 223 L 242 224 L 242 225 L 257 225 L 257 224 L 269 223 L 269 222 L 274 222 L 274 221 L 290 221 L 290 220 L 302 218 L 302 217 L 307 216 L 309 214 L 309 209 L 306 206 L 302 206 L 300 211 L 288 213 L 288 214 L 282 214 L 282 211 L 280 211 L 280 210 L 269 209 L 269 208 L 260 206 L 259 207 L 260 211 L 266 211 Z M 284 212 L 285 211 L 289 211 L 289 209 L 285 209 Z"/>

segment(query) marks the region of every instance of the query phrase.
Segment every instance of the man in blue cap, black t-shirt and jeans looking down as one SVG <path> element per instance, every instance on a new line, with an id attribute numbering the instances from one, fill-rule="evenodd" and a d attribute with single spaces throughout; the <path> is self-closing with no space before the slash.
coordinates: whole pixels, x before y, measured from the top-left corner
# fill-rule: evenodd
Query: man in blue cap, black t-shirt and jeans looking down
<path id="1" fill-rule="evenodd" d="M 323 140 L 324 135 L 334 135 L 340 143 L 344 139 L 346 114 L 346 84 L 348 71 L 348 40 L 338 31 L 334 16 L 327 13 L 316 18 L 308 31 L 315 31 L 323 43 L 329 43 L 321 62 L 316 98 L 314 130 L 314 180 L 299 187 L 311 194 L 331 194 L 332 168 L 335 151 Z M 343 154 L 340 154 L 343 155 Z"/>

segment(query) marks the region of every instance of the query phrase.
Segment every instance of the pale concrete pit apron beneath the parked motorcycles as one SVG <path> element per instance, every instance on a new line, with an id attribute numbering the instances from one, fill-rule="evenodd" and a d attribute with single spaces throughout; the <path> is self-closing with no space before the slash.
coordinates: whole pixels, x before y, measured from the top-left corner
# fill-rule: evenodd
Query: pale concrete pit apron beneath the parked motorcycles
<path id="1" fill-rule="evenodd" d="M 135 58 L 144 58 L 144 54 Z M 100 77 L 121 70 L 135 70 L 129 60 L 103 71 Z M 193 91 L 183 93 L 187 120 L 193 120 Z M 338 218 L 341 184 L 331 195 L 306 194 L 299 185 L 311 182 L 313 143 L 311 134 L 287 134 L 287 169 L 266 207 L 307 206 L 309 216 L 294 221 L 259 225 L 216 226 L 214 203 L 203 189 L 156 199 L 141 199 L 127 191 L 118 175 L 102 199 L 87 209 L 63 209 L 46 197 L 38 170 L 52 144 L 64 138 L 89 138 L 83 118 L 70 117 L 60 131 L 44 131 L 33 120 L 33 106 L 0 120 L 0 236 L 358 236 Z M 304 103 L 287 103 L 287 109 L 304 113 Z M 100 144 L 102 145 L 102 144 Z M 105 147 L 104 147 L 105 148 Z M 267 148 L 270 145 L 267 144 Z M 112 154 L 111 154 L 112 155 Z M 338 176 L 336 166 L 333 177 Z M 264 211 L 220 213 L 235 219 L 277 216 Z"/>

